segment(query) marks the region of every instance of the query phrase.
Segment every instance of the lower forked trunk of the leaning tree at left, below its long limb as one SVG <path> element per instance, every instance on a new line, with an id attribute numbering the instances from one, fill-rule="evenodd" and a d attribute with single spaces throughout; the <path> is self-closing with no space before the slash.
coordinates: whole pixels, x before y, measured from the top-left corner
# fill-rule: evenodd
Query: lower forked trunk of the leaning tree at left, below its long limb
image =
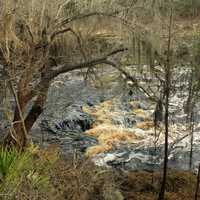
<path id="1" fill-rule="evenodd" d="M 30 142 L 30 130 L 34 123 L 43 111 L 43 106 L 46 101 L 49 82 L 46 82 L 39 88 L 36 100 L 33 103 L 30 111 L 24 118 L 27 104 L 32 100 L 32 95 L 23 96 L 18 92 L 15 96 L 16 107 L 13 119 L 13 126 L 10 128 L 6 138 L 4 139 L 5 146 L 15 146 L 17 149 L 24 149 Z"/>

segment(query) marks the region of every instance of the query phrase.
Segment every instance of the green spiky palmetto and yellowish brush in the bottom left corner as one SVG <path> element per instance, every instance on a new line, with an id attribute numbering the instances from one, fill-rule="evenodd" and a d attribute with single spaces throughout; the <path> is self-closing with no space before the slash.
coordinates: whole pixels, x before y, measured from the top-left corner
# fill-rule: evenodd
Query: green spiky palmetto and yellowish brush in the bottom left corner
<path id="1" fill-rule="evenodd" d="M 53 153 L 35 147 L 22 153 L 15 149 L 1 149 L 0 194 L 5 195 L 4 199 L 23 199 L 19 195 L 24 191 L 31 191 L 32 196 L 45 194 L 51 190 L 49 173 L 57 159 L 57 151 Z"/>

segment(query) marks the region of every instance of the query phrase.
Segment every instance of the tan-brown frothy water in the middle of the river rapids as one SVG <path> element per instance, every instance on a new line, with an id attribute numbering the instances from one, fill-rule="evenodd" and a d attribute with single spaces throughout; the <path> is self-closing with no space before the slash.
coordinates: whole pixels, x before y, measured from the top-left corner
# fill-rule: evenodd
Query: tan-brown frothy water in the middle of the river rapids
<path id="1" fill-rule="evenodd" d="M 91 157 L 98 153 L 108 152 L 122 143 L 134 144 L 141 139 L 135 135 L 133 130 L 113 124 L 112 119 L 121 114 L 120 111 L 115 108 L 116 101 L 116 99 L 108 100 L 93 108 L 84 107 L 84 112 L 89 113 L 95 118 L 93 128 L 85 133 L 96 137 L 99 141 L 97 146 L 88 148 L 86 152 L 87 156 Z M 139 107 L 139 102 L 137 101 L 133 101 L 132 104 L 135 105 L 135 107 Z M 140 117 L 142 116 L 147 119 L 147 114 L 142 109 L 135 109 L 134 112 Z M 139 127 L 142 129 L 145 128 L 146 130 L 151 127 L 151 124 L 147 121 L 145 124 L 139 125 Z"/>

